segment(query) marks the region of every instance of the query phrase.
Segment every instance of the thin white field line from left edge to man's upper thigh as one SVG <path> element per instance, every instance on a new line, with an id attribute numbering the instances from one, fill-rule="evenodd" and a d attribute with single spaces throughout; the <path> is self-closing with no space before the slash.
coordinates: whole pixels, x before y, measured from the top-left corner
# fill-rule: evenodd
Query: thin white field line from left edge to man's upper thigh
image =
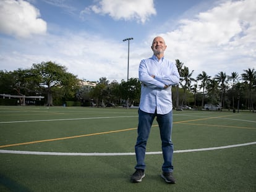
<path id="1" fill-rule="evenodd" d="M 74 118 L 74 119 L 17 120 L 12 122 L 0 122 L 0 123 L 54 122 L 54 121 L 62 121 L 62 120 L 112 119 L 112 118 L 129 118 L 129 117 L 138 117 L 138 115 L 115 116 L 115 117 L 85 117 L 85 118 Z"/>

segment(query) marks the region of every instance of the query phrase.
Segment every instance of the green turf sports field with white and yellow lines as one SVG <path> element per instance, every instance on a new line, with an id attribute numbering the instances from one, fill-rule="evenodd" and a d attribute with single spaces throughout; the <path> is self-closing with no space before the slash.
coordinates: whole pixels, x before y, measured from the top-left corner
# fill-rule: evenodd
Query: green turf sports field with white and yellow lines
<path id="1" fill-rule="evenodd" d="M 0 191 L 256 191 L 256 113 L 174 111 L 174 177 L 151 128 L 134 172 L 137 109 L 0 106 Z"/>

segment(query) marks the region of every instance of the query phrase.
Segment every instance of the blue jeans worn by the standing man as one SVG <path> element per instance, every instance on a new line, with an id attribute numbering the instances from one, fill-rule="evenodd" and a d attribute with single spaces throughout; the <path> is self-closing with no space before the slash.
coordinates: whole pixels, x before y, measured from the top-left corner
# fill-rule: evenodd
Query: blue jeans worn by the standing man
<path id="1" fill-rule="evenodd" d="M 162 166 L 163 172 L 173 172 L 173 151 L 174 146 L 171 141 L 171 131 L 173 128 L 173 111 L 165 115 L 160 114 L 148 114 L 139 109 L 139 125 L 138 125 L 138 137 L 135 144 L 135 153 L 137 165 L 135 169 L 145 170 L 145 152 L 147 146 L 148 136 L 150 134 L 151 125 L 156 117 L 160 128 L 160 136 L 162 141 L 162 151 L 164 163 Z"/>

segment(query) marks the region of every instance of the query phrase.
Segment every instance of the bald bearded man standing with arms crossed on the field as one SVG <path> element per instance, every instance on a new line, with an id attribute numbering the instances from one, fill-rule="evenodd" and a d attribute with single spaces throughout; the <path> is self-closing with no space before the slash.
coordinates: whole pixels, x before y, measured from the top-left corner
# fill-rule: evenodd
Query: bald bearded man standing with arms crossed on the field
<path id="1" fill-rule="evenodd" d="M 166 44 L 160 36 L 154 38 L 151 49 L 153 56 L 143 59 L 139 66 L 139 80 L 142 82 L 139 124 L 135 153 L 137 165 L 131 181 L 141 182 L 145 177 L 145 151 L 151 125 L 156 117 L 160 128 L 164 163 L 161 177 L 167 183 L 175 183 L 173 177 L 173 102 L 171 86 L 179 83 L 179 72 L 173 62 L 164 58 Z"/>

